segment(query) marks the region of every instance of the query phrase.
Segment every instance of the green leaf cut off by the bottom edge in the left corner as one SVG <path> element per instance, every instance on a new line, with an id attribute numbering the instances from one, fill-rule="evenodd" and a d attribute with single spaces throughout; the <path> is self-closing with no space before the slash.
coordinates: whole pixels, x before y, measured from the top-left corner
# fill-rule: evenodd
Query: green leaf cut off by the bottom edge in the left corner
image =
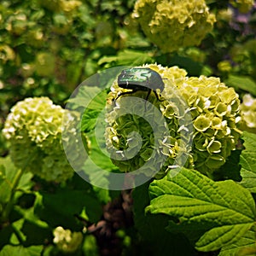
<path id="1" fill-rule="evenodd" d="M 6 245 L 0 252 L 0 256 L 40 256 L 43 246 L 21 247 Z"/>

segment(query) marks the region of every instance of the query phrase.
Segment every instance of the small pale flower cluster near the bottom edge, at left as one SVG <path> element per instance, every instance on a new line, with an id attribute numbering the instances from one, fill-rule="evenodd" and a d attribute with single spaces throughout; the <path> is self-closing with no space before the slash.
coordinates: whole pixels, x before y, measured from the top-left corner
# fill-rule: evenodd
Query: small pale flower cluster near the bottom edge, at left
<path id="1" fill-rule="evenodd" d="M 78 250 L 83 241 L 81 232 L 72 232 L 71 230 L 64 230 L 61 226 L 55 228 L 53 231 L 54 243 L 65 253 L 74 253 Z"/>

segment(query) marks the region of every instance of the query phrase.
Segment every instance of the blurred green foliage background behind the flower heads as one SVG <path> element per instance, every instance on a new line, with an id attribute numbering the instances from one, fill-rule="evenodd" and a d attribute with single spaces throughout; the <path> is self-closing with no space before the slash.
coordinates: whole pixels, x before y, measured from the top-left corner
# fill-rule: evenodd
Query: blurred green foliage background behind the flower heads
<path id="1" fill-rule="evenodd" d="M 256 95 L 255 6 L 241 14 L 229 1 L 208 0 L 214 30 L 199 47 L 163 54 L 131 18 L 135 2 L 1 1 L 0 128 L 15 102 L 49 96 L 63 106 L 84 79 L 119 65 L 177 65 Z M 7 154 L 1 136 L 0 143 Z"/>

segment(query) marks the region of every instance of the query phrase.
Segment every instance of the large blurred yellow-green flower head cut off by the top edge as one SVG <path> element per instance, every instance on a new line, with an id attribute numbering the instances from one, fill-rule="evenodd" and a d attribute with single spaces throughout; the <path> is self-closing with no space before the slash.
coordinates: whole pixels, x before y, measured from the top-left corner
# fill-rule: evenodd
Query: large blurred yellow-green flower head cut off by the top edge
<path id="1" fill-rule="evenodd" d="M 215 22 L 204 0 L 138 0 L 133 17 L 164 52 L 201 44 Z"/>

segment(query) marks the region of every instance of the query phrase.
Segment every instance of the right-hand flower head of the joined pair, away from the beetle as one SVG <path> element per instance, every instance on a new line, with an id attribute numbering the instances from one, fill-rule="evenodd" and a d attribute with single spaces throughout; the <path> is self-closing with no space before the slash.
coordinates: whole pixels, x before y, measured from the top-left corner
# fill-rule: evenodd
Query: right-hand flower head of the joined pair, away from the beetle
<path id="1" fill-rule="evenodd" d="M 185 78 L 180 87 L 195 128 L 195 169 L 211 173 L 224 165 L 241 135 L 237 126 L 240 101 L 236 91 L 218 78 Z"/>

